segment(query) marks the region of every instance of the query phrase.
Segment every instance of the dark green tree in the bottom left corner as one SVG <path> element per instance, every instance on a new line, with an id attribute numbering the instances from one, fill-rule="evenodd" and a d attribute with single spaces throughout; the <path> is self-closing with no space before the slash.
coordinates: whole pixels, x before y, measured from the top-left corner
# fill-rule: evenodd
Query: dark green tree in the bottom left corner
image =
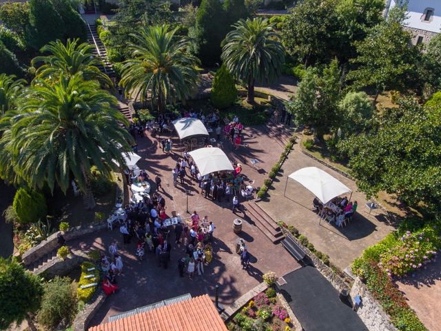
<path id="1" fill-rule="evenodd" d="M 41 277 L 25 271 L 22 265 L 0 258 L 0 329 L 27 319 L 31 330 L 37 330 L 30 314 L 40 307 L 43 296 Z"/>

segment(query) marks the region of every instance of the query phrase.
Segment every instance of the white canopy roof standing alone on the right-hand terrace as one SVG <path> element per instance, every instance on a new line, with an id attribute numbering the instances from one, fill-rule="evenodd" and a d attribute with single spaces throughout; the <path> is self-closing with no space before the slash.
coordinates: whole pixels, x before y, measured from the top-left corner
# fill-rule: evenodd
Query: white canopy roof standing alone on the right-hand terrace
<path id="1" fill-rule="evenodd" d="M 305 188 L 314 193 L 322 203 L 328 203 L 341 194 L 352 192 L 351 189 L 341 181 L 316 167 L 302 168 L 293 172 L 288 177 L 305 186 Z"/>

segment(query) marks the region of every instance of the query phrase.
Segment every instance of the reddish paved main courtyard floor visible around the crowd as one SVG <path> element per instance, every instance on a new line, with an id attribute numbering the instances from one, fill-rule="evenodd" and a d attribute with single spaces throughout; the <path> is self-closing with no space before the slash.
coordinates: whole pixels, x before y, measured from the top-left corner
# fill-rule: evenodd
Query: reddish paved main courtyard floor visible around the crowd
<path id="1" fill-rule="evenodd" d="M 300 265 L 291 258 L 289 253 L 281 245 L 273 245 L 265 235 L 260 232 L 256 225 L 247 215 L 238 214 L 248 221 L 243 224 L 243 232 L 240 237 L 247 241 L 247 247 L 252 254 L 252 266 L 249 270 L 242 270 L 240 258 L 235 252 L 235 243 L 238 236 L 232 231 L 232 221 L 236 216 L 232 214 L 232 202 L 221 203 L 205 199 L 194 181 L 186 179 L 184 185 L 177 188 L 172 184 L 172 167 L 176 163 L 177 154 L 167 156 L 158 149 L 158 141 L 148 136 L 137 139 L 139 144 L 139 155 L 142 159 L 138 165 L 146 169 L 150 177 L 158 174 L 163 179 L 165 192 L 161 191 L 166 199 L 167 213 L 176 211 L 183 216 L 186 214 L 185 190 L 189 190 L 189 210 L 196 210 L 199 215 L 208 215 L 209 219 L 216 225 L 214 239 L 214 259 L 212 263 L 205 266 L 203 276 L 194 277 L 190 281 L 187 277 L 178 276 L 177 261 L 184 256 L 184 248 L 174 245 L 174 234 L 171 234 L 171 242 L 174 247 L 169 268 L 159 268 L 154 254 L 147 254 L 144 261 L 138 261 L 134 257 L 134 243 L 123 248 L 123 263 L 125 268 L 123 276 L 119 278 L 121 290 L 108 297 L 103 307 L 92 319 L 90 325 L 96 325 L 107 321 L 107 317 L 137 308 L 142 305 L 175 297 L 179 294 L 191 293 L 198 295 L 208 293 L 214 298 L 214 286 L 220 285 L 219 301 L 228 305 L 238 299 L 241 295 L 254 288 L 262 281 L 262 275 L 270 270 L 278 275 L 286 274 Z M 267 137 L 265 132 L 258 129 L 246 129 L 245 141 L 249 143 L 249 150 L 238 150 L 231 152 L 225 148 L 228 156 L 232 159 L 243 160 L 246 153 L 247 158 L 256 157 L 260 159 L 265 170 L 269 170 L 278 159 L 282 148 Z M 176 141 L 177 144 L 177 141 Z M 174 146 L 176 146 L 174 144 Z M 226 146 L 227 147 L 227 146 Z M 249 165 L 243 164 L 243 172 L 250 178 L 256 180 L 255 185 L 263 182 L 265 174 L 257 172 Z M 74 241 L 74 248 L 98 248 L 104 250 L 112 239 L 117 238 L 122 242 L 118 230 L 102 231 Z"/>

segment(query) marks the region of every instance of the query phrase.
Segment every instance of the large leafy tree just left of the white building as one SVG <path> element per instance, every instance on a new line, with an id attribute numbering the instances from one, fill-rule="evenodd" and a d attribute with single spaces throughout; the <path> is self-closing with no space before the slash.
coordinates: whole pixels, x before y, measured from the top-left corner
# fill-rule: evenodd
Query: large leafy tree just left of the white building
<path id="1" fill-rule="evenodd" d="M 418 76 L 418 49 L 411 43 L 411 34 L 402 28 L 393 12 L 392 19 L 373 27 L 363 41 L 356 42 L 356 66 L 347 74 L 356 88 L 373 88 L 374 102 L 384 89 L 402 89 Z"/>

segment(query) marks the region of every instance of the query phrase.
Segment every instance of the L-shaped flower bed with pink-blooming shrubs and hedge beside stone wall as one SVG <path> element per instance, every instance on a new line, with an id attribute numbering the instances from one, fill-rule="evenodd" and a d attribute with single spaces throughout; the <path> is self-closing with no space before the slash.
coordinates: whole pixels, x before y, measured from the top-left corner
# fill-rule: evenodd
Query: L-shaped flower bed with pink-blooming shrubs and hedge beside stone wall
<path id="1" fill-rule="evenodd" d="M 398 330 L 427 330 L 394 282 L 407 274 L 414 276 L 436 260 L 440 234 L 439 222 L 407 219 L 397 232 L 367 248 L 353 262 L 353 273 L 366 283 Z"/>

